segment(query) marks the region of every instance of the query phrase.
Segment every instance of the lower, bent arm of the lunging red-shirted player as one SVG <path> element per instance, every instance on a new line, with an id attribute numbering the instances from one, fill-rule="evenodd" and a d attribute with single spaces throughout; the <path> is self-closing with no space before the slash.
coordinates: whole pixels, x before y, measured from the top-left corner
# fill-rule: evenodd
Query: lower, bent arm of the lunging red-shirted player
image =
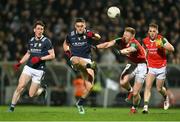
<path id="1" fill-rule="evenodd" d="M 132 43 L 130 47 L 120 50 L 120 53 L 123 55 L 128 55 L 136 51 L 137 51 L 137 45 L 135 43 Z"/>

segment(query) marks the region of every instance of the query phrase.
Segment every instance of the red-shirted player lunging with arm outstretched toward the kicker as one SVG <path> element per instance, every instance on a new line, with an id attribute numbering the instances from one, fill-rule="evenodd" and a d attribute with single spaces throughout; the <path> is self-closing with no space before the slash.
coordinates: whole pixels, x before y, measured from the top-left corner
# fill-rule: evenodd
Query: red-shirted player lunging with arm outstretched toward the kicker
<path id="1" fill-rule="evenodd" d="M 141 100 L 140 91 L 147 73 L 145 50 L 135 39 L 135 29 L 132 27 L 125 28 L 122 38 L 116 38 L 112 41 L 99 44 L 96 47 L 102 49 L 115 44 L 122 47 L 121 50 L 118 50 L 118 53 L 127 56 L 129 59 L 129 63 L 120 76 L 120 85 L 129 92 L 126 101 L 132 102 L 130 113 L 136 113 Z M 130 80 L 134 77 L 135 82 L 132 87 Z"/>

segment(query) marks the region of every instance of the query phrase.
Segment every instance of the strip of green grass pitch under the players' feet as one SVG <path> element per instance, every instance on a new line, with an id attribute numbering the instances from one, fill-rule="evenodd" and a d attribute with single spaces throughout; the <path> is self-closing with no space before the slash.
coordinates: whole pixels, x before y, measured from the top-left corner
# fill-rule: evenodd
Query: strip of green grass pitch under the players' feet
<path id="1" fill-rule="evenodd" d="M 150 108 L 143 115 L 141 109 L 134 115 L 129 108 L 86 107 L 86 114 L 79 115 L 75 107 L 17 106 L 15 112 L 8 113 L 7 106 L 0 107 L 0 121 L 180 121 L 180 109 L 163 110 Z"/>

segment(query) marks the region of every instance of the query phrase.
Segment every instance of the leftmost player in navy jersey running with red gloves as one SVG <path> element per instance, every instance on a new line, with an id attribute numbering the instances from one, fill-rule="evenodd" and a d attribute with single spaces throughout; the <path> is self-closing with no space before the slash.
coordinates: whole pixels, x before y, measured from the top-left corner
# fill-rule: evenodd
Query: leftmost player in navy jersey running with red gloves
<path id="1" fill-rule="evenodd" d="M 15 105 L 30 80 L 32 81 L 29 88 L 30 97 L 39 96 L 45 92 L 45 88 L 41 86 L 45 73 L 45 62 L 54 59 L 55 53 L 51 41 L 43 35 L 44 26 L 42 21 L 35 22 L 33 26 L 35 35 L 29 40 L 28 50 L 22 59 L 14 65 L 14 69 L 17 71 L 21 64 L 27 62 L 14 91 L 9 112 L 14 111 Z"/>

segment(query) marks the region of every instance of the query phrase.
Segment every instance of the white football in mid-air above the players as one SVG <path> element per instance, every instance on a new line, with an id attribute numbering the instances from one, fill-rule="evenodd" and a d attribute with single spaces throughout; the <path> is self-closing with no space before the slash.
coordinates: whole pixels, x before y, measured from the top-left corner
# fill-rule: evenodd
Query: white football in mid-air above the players
<path id="1" fill-rule="evenodd" d="M 108 17 L 110 18 L 116 18 L 117 16 L 120 15 L 120 9 L 116 6 L 112 6 L 110 8 L 108 8 L 108 11 L 107 11 L 107 15 Z"/>

